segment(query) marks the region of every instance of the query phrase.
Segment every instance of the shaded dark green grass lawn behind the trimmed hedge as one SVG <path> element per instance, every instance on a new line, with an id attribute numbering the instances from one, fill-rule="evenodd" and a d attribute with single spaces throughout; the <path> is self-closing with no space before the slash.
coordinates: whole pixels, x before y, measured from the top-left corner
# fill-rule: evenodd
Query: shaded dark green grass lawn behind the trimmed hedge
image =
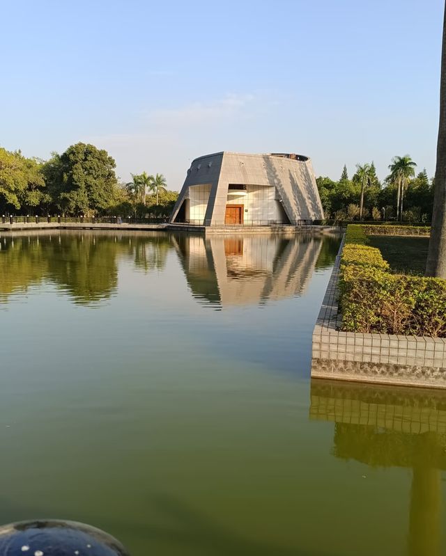
<path id="1" fill-rule="evenodd" d="M 369 239 L 369 245 L 380 250 L 393 271 L 424 274 L 429 237 L 371 235 Z"/>

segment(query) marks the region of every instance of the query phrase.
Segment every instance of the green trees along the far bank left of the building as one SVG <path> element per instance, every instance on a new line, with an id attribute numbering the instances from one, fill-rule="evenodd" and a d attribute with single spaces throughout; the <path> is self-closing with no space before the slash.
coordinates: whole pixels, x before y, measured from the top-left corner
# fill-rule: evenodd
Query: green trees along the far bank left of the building
<path id="1" fill-rule="evenodd" d="M 168 216 L 178 193 L 162 174 L 123 183 L 106 150 L 76 143 L 41 160 L 0 148 L 0 214 Z"/>

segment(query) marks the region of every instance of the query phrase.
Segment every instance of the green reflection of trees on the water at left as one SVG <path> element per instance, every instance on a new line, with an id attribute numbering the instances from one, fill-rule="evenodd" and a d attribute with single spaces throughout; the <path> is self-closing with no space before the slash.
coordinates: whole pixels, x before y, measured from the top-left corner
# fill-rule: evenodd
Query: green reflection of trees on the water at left
<path id="1" fill-rule="evenodd" d="M 51 280 L 75 303 L 108 299 L 118 285 L 119 257 L 144 271 L 163 269 L 169 236 L 113 232 L 42 232 L 1 239 L 0 301 L 31 284 Z"/>

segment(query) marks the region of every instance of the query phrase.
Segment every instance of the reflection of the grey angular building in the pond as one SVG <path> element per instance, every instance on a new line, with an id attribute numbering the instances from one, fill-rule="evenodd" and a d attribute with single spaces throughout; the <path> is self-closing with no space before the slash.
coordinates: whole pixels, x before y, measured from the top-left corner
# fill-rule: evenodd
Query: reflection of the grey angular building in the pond
<path id="1" fill-rule="evenodd" d="M 321 251 L 321 239 L 295 235 L 181 236 L 174 241 L 194 296 L 222 307 L 301 294 Z"/>

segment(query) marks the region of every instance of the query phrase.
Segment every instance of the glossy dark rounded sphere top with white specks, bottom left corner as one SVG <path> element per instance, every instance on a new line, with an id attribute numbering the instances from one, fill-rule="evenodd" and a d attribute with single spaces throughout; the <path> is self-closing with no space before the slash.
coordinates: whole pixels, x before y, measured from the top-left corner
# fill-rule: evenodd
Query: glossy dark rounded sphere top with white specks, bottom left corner
<path id="1" fill-rule="evenodd" d="M 109 534 L 75 521 L 0 526 L 0 556 L 130 556 Z"/>

